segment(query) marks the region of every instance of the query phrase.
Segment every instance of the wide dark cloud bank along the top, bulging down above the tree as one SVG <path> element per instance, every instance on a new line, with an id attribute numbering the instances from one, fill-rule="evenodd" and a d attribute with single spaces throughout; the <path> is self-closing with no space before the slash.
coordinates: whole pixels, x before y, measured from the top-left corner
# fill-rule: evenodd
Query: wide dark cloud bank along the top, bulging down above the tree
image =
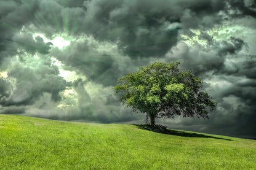
<path id="1" fill-rule="evenodd" d="M 220 23 L 223 1 L 41 1 L 33 20 L 41 31 L 86 33 L 118 42 L 131 57 L 162 56 L 177 44 L 178 31 Z"/>

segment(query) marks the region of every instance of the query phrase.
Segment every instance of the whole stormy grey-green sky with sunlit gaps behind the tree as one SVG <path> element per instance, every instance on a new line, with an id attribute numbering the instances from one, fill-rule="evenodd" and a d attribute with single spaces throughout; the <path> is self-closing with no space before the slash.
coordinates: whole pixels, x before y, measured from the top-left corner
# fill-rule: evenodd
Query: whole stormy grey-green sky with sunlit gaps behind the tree
<path id="1" fill-rule="evenodd" d="M 0 114 L 144 123 L 118 101 L 118 78 L 180 61 L 217 109 L 156 123 L 256 138 L 255 44 L 255 0 L 0 0 Z"/>

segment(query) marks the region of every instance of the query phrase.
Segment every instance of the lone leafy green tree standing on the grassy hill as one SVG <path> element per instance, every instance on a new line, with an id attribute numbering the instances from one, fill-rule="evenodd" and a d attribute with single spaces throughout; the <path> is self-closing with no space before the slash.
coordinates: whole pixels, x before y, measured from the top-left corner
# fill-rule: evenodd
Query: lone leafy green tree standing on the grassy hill
<path id="1" fill-rule="evenodd" d="M 152 63 L 137 72 L 118 79 L 114 91 L 121 93 L 120 101 L 133 111 L 150 117 L 151 125 L 155 118 L 183 117 L 209 118 L 217 102 L 199 91 L 202 81 L 191 71 L 180 72 L 176 63 Z"/>

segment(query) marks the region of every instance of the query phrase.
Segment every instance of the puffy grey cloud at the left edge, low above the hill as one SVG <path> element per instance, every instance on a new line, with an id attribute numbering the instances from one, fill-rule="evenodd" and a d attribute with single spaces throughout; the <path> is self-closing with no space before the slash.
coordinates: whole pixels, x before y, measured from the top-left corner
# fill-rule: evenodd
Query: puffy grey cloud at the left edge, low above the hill
<path id="1" fill-rule="evenodd" d="M 15 79 L 15 87 L 2 93 L 6 98 L 1 99 L 1 105 L 30 105 L 44 93 L 50 93 L 52 100 L 58 101 L 60 91 L 66 88 L 66 81 L 58 76 L 58 68 L 50 66 L 50 63 L 45 61 L 37 63 L 30 58 L 24 58 L 23 62 L 27 63 L 26 67 L 22 66 L 23 63 L 15 63 L 15 61 L 12 64 L 14 68 L 9 70 L 8 77 Z M 5 84 L 3 83 L 3 85 Z M 2 87 L 2 89 L 6 88 Z M 10 91 L 12 91 L 11 95 L 9 95 Z"/>

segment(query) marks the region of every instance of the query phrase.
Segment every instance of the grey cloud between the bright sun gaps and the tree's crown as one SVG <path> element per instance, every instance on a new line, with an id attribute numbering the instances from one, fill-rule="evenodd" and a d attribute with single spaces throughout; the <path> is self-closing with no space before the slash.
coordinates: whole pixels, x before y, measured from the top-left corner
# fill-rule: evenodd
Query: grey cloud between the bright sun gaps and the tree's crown
<path id="1" fill-rule="evenodd" d="M 121 75 L 118 66 L 114 65 L 114 59 L 105 52 L 98 52 L 98 44 L 92 43 L 89 38 L 82 42 L 71 42 L 70 47 L 64 51 L 54 48 L 50 55 L 71 66 L 68 69 L 86 75 L 91 81 L 105 86 L 114 85 Z"/>

